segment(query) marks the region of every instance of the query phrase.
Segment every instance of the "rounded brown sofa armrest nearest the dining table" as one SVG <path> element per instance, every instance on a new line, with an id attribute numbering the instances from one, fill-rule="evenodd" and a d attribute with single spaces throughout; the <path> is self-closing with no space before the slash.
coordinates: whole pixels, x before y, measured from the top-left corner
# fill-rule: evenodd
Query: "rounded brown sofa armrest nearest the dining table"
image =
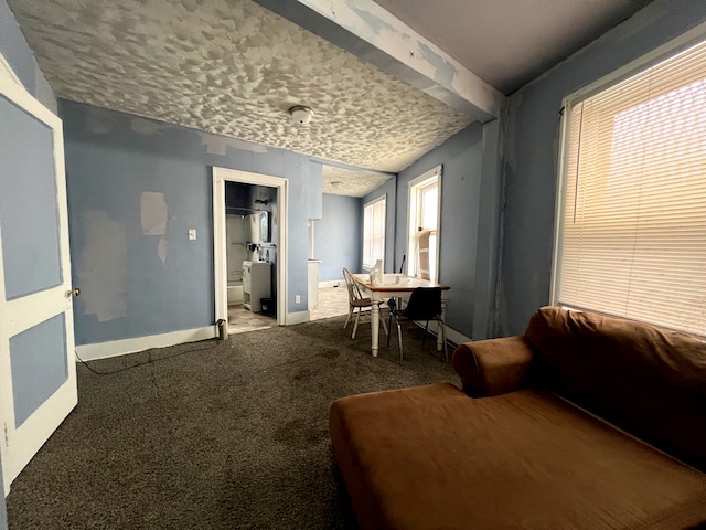
<path id="1" fill-rule="evenodd" d="M 453 351 L 453 368 L 471 398 L 506 394 L 527 385 L 534 352 L 524 337 L 479 340 Z"/>

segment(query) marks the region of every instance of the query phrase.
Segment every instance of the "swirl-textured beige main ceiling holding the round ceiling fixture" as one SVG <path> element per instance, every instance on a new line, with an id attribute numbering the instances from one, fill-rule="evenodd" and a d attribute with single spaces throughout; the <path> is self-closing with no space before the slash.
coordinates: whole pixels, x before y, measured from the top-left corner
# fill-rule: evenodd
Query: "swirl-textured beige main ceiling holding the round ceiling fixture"
<path id="1" fill-rule="evenodd" d="M 9 3 L 66 99 L 392 172 L 470 123 L 250 0 Z"/>

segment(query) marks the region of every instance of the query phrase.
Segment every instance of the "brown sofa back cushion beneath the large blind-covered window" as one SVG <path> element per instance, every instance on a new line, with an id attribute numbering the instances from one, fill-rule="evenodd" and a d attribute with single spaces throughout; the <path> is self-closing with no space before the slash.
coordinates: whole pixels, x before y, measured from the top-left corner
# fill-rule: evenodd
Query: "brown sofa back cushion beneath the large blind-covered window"
<path id="1" fill-rule="evenodd" d="M 632 320 L 544 307 L 525 338 L 542 384 L 706 471 L 706 343 Z"/>

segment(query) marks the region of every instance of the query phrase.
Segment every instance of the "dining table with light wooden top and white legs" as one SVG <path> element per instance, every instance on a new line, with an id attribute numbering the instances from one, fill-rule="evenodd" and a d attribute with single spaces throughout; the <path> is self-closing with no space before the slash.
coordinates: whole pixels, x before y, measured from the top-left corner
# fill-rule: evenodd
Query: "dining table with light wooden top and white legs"
<path id="1" fill-rule="evenodd" d="M 387 298 L 409 298 L 411 293 L 419 287 L 440 287 L 441 288 L 441 320 L 446 322 L 446 304 L 449 289 L 448 285 L 438 284 L 429 279 L 416 278 L 405 274 L 383 274 L 382 279 L 375 283 L 371 282 L 368 274 L 352 274 L 353 280 L 357 284 L 361 292 L 372 300 L 371 309 L 371 352 L 373 357 L 377 357 L 379 349 L 379 301 Z M 392 332 L 389 330 L 388 332 Z M 437 333 L 437 350 L 443 349 L 443 337 Z"/>

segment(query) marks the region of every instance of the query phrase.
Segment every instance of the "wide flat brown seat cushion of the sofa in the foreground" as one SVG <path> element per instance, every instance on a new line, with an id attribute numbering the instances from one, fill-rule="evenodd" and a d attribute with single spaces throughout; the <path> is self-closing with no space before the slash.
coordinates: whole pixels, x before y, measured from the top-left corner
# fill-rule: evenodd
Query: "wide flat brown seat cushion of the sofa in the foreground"
<path id="1" fill-rule="evenodd" d="M 341 399 L 330 433 L 361 528 L 686 528 L 706 475 L 530 389 Z"/>

